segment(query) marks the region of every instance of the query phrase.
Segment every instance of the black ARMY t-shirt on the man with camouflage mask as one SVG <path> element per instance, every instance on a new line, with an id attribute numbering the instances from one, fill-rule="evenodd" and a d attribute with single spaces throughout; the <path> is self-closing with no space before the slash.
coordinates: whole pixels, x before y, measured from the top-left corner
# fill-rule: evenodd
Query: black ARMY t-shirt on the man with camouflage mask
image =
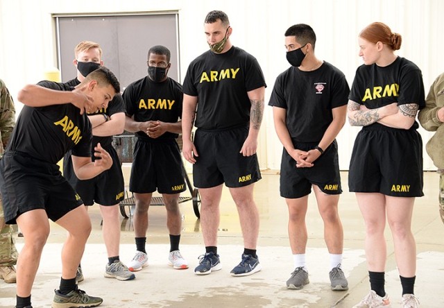
<path id="1" fill-rule="evenodd" d="M 188 67 L 183 92 L 198 96 L 196 127 L 206 130 L 234 128 L 250 121 L 247 92 L 266 87 L 259 63 L 243 49 L 226 53 L 207 51 Z"/>

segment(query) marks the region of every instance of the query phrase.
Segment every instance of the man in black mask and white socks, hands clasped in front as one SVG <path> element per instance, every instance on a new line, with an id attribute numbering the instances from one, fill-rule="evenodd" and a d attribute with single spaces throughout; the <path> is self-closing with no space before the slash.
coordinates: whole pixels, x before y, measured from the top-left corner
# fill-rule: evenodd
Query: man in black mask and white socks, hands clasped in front
<path id="1" fill-rule="evenodd" d="M 341 194 L 336 136 L 343 128 L 349 88 L 344 74 L 316 58 L 316 34 L 306 24 L 285 33 L 287 60 L 292 67 L 276 79 L 269 105 L 275 129 L 284 146 L 280 194 L 289 209 L 289 239 L 295 270 L 287 288 L 309 283 L 305 262 L 308 195 L 313 187 L 324 221 L 325 243 L 330 253 L 332 290 L 347 290 L 341 270 L 343 229 L 338 203 Z"/>

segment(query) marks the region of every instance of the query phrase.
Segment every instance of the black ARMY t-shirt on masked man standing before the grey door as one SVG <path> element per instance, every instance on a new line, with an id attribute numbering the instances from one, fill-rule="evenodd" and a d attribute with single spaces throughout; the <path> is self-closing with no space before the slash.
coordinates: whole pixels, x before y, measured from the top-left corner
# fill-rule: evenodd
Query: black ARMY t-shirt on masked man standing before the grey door
<path id="1" fill-rule="evenodd" d="M 182 117 L 182 86 L 171 78 L 155 83 L 148 76 L 131 83 L 123 92 L 126 114 L 137 122 L 162 121 L 176 123 Z M 152 139 L 144 132 L 137 137 Z M 157 139 L 173 139 L 178 134 L 165 132 Z"/>

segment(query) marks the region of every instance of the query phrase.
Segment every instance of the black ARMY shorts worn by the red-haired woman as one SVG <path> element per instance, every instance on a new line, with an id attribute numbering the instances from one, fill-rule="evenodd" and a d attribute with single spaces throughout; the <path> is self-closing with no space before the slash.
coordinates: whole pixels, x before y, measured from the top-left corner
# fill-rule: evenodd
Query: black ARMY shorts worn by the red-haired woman
<path id="1" fill-rule="evenodd" d="M 350 191 L 420 197 L 422 185 L 422 139 L 416 130 L 379 123 L 362 128 L 350 160 Z"/>

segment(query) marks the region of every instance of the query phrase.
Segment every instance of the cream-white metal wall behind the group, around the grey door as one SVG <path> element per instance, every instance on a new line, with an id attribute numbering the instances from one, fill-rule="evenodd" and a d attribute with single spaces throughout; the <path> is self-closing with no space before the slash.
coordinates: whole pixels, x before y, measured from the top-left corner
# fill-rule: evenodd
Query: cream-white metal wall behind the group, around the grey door
<path id="1" fill-rule="evenodd" d="M 112 13 L 178 10 L 182 78 L 191 60 L 207 50 L 203 19 L 210 10 L 224 10 L 233 28 L 232 42 L 259 60 L 268 88 L 289 67 L 285 60 L 284 31 L 292 24 L 310 24 L 316 31 L 318 58 L 341 69 L 352 83 L 358 57 L 357 34 L 370 22 L 385 22 L 402 34 L 398 52 L 415 62 L 424 76 L 426 92 L 444 71 L 444 1 L 440 0 L 0 0 L 0 78 L 13 96 L 26 83 L 36 83 L 56 66 L 56 13 Z M 161 27 L 162 25 L 159 25 Z M 440 31 L 441 29 L 441 31 Z M 148 29 L 150 30 L 150 29 Z M 155 31 L 155 29 L 153 29 Z M 105 59 L 104 59 L 105 60 Z M 19 104 L 17 104 L 20 109 Z M 341 169 L 348 169 L 357 128 L 345 124 L 338 137 Z M 420 130 L 424 143 L 429 133 Z M 262 169 L 279 169 L 281 146 L 275 135 L 271 108 L 266 107 L 259 140 Z M 434 166 L 425 153 L 425 169 Z"/>

